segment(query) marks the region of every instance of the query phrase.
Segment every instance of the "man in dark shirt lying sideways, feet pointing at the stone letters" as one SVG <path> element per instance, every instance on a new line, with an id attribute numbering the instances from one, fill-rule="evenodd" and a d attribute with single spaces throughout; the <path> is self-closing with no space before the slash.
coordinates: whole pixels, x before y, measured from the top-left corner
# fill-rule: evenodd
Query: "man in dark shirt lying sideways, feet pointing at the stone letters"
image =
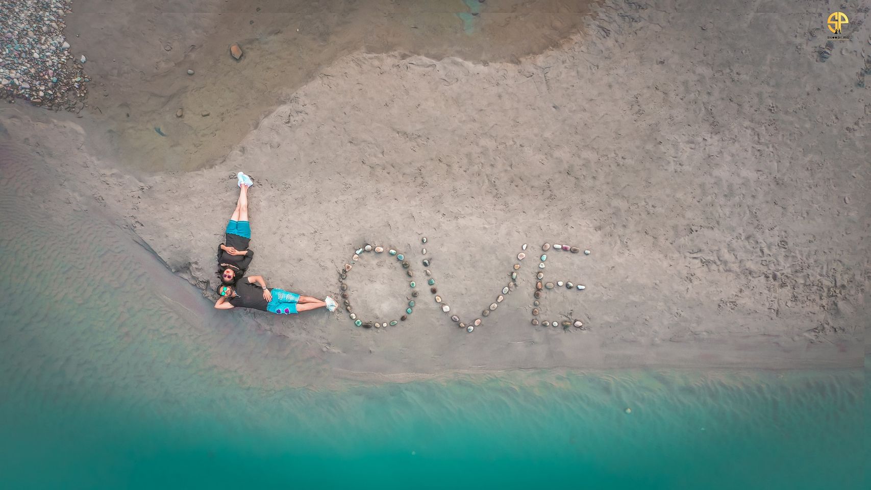
<path id="1" fill-rule="evenodd" d="M 262 276 L 249 276 L 246 281 L 240 281 L 235 287 L 218 286 L 218 310 L 230 310 L 234 307 L 253 308 L 276 313 L 278 315 L 295 315 L 300 311 L 315 310 L 327 307 L 335 310 L 336 303 L 327 296 L 323 301 L 312 296 L 300 296 L 284 289 L 267 289 L 267 282 Z"/>

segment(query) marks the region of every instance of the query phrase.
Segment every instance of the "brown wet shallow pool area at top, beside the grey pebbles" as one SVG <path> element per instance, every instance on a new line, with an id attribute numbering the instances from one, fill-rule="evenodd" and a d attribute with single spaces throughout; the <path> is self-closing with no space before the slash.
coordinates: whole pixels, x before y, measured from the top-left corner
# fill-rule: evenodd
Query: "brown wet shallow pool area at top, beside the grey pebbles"
<path id="1" fill-rule="evenodd" d="M 589 0 L 77 0 L 67 33 L 94 79 L 84 111 L 91 152 L 152 173 L 218 164 L 348 53 L 517 63 L 577 31 L 590 8 Z M 239 61 L 233 43 L 244 51 Z"/>

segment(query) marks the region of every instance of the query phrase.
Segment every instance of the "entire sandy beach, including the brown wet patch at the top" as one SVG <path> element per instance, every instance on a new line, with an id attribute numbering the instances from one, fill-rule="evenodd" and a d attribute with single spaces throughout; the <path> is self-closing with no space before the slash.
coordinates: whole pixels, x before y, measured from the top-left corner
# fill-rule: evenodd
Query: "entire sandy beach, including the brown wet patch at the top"
<path id="1" fill-rule="evenodd" d="M 396 326 L 227 312 L 349 378 L 862 364 L 868 2 L 825 60 L 817 3 L 273 3 L 74 3 L 87 107 L 3 105 L 0 144 L 63 176 L 47 207 L 96 201 L 209 301 L 240 170 L 270 285 L 339 296 L 357 248 L 398 250 L 413 277 L 384 252 L 346 281 L 373 322 L 415 301 Z M 539 271 L 585 289 L 536 298 Z"/>

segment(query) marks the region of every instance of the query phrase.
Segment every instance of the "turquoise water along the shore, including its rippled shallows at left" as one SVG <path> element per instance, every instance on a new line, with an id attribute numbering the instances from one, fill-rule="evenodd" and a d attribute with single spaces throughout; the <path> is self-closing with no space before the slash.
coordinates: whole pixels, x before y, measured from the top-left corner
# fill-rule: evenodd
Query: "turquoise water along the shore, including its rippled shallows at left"
<path id="1" fill-rule="evenodd" d="M 867 488 L 859 370 L 344 382 L 0 163 L 0 487 Z"/>

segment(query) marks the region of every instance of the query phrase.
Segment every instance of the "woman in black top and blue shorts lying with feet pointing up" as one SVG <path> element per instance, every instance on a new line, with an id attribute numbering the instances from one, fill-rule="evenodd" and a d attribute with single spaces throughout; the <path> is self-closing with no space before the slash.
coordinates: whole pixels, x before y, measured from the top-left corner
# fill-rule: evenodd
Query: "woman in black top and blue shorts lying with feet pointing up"
<path id="1" fill-rule="evenodd" d="M 251 224 L 248 223 L 248 187 L 253 185 L 251 178 L 239 173 L 239 201 L 230 222 L 226 225 L 224 243 L 218 246 L 218 276 L 220 282 L 233 285 L 251 264 L 254 253 L 248 248 L 251 242 Z"/>

